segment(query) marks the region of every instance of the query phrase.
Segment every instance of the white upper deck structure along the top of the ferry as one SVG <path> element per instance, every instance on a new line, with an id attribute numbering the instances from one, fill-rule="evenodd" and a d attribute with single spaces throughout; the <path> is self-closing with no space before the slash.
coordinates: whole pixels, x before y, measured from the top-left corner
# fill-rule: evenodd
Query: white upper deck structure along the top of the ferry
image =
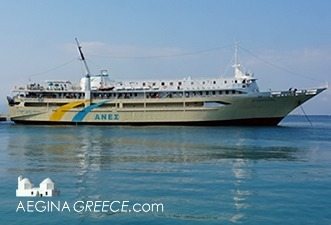
<path id="1" fill-rule="evenodd" d="M 43 84 L 30 83 L 16 86 L 14 92 L 84 92 L 86 78 L 82 78 L 80 85 L 73 85 L 67 80 L 47 80 Z M 258 92 L 256 79 L 246 74 L 244 77 L 205 78 L 191 77 L 177 80 L 139 80 L 114 81 L 103 71 L 100 75 L 90 76 L 91 91 L 111 92 L 174 92 L 174 91 L 204 91 L 204 90 L 238 90 L 242 92 Z"/>

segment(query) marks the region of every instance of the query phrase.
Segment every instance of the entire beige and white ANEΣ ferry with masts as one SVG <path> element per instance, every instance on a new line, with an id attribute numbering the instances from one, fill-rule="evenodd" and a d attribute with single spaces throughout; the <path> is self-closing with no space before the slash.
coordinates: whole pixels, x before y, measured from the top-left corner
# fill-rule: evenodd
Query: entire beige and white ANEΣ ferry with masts
<path id="1" fill-rule="evenodd" d="M 326 89 L 260 91 L 235 60 L 229 78 L 114 81 L 92 75 L 76 39 L 86 75 L 80 85 L 48 80 L 16 87 L 9 117 L 20 124 L 275 126 Z M 237 51 L 236 51 L 237 52 Z M 237 54 L 236 54 L 237 55 Z"/>

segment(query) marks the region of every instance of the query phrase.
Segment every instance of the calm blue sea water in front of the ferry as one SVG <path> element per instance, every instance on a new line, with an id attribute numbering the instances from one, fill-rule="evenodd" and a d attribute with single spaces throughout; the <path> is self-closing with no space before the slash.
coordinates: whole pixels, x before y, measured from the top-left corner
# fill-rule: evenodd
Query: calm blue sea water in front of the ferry
<path id="1" fill-rule="evenodd" d="M 331 224 L 331 117 L 279 127 L 0 125 L 1 224 Z M 17 198 L 17 177 L 54 198 Z M 24 213 L 27 200 L 162 202 L 159 213 Z"/>

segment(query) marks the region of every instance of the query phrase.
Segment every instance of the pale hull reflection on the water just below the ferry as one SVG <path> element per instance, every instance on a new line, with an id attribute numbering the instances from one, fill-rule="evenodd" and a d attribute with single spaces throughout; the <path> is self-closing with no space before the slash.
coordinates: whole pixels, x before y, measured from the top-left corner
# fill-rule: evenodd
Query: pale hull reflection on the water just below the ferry
<path id="1" fill-rule="evenodd" d="M 138 129 L 102 129 L 98 127 L 14 127 L 20 135 L 11 135 L 7 148 L 14 159 L 36 163 L 38 159 L 61 160 L 77 163 L 83 170 L 100 170 L 112 163 L 126 162 L 170 162 L 194 163 L 223 159 L 246 160 L 296 160 L 297 147 L 261 145 L 248 139 L 233 139 L 232 142 L 208 142 L 208 133 L 199 129 L 172 130 L 165 128 L 159 138 L 140 135 Z M 160 131 L 160 130 L 158 130 Z M 163 131 L 163 132 L 162 132 Z M 204 130 L 205 131 L 205 130 Z M 204 132 L 203 131 L 203 132 Z M 170 132 L 170 133 L 169 133 Z M 175 132 L 175 133 L 171 133 Z M 248 133 L 249 134 L 249 133 Z M 185 135 L 189 138 L 176 138 Z M 247 135 L 242 133 L 242 135 Z M 227 136 L 229 136 L 227 134 Z M 236 138 L 236 137 L 235 137 Z M 246 140 L 246 141 L 245 141 Z M 42 162 L 39 162 L 42 164 Z M 59 168 L 61 169 L 61 168 Z"/>

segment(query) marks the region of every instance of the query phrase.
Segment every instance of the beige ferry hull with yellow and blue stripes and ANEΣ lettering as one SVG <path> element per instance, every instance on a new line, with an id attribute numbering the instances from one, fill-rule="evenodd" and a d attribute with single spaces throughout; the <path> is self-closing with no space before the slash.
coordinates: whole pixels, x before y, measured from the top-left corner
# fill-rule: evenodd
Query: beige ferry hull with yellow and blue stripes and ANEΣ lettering
<path id="1" fill-rule="evenodd" d="M 180 99 L 98 99 L 88 106 L 85 100 L 59 99 L 61 107 L 51 106 L 54 99 L 39 99 L 30 107 L 11 106 L 10 118 L 24 124 L 277 125 L 323 90 Z"/>

